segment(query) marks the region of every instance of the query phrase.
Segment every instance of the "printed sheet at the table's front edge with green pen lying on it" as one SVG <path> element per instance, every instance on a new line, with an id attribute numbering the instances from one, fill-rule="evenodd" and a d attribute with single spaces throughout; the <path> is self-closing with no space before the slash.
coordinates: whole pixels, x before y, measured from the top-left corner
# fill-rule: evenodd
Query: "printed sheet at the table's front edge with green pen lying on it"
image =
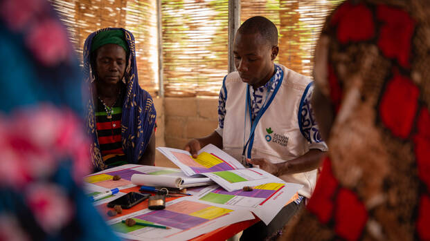
<path id="1" fill-rule="evenodd" d="M 137 222 L 167 226 L 169 229 L 151 226 L 127 226 L 122 221 L 133 218 Z M 214 204 L 192 201 L 181 197 L 166 203 L 163 210 L 143 209 L 108 221 L 122 238 L 130 240 L 189 240 L 222 226 L 252 220 L 253 215 L 242 209 L 226 209 Z"/>

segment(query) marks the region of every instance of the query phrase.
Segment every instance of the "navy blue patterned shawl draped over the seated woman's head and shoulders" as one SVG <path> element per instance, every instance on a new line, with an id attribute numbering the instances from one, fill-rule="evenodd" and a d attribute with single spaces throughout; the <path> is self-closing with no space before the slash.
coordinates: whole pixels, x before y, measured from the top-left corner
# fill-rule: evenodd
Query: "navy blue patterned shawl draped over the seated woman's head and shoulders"
<path id="1" fill-rule="evenodd" d="M 132 33 L 123 28 L 102 28 L 91 33 L 84 44 L 84 80 L 89 84 L 89 95 L 92 95 L 91 82 L 95 80 L 95 73 L 93 73 L 94 66 L 91 66 L 90 61 L 90 47 L 96 35 L 108 30 L 123 31 L 129 49 L 128 64 L 124 74 L 126 87 L 123 114 L 121 117 L 121 137 L 123 151 L 127 156 L 128 162 L 136 164 L 145 152 L 154 131 L 156 111 L 151 95 L 138 85 L 136 52 Z M 96 116 L 94 115 L 92 98 L 89 98 L 87 104 L 87 131 L 91 135 L 92 140 L 91 159 L 93 165 L 96 171 L 103 170 L 105 163 L 102 160 L 100 144 L 98 143 Z"/>

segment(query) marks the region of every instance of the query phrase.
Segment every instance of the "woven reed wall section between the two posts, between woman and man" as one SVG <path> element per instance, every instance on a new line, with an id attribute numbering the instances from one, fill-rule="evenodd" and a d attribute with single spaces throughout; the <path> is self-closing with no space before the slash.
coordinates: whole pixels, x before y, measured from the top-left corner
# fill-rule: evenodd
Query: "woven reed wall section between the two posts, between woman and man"
<path id="1" fill-rule="evenodd" d="M 163 0 L 165 96 L 218 95 L 227 74 L 229 1 Z"/>

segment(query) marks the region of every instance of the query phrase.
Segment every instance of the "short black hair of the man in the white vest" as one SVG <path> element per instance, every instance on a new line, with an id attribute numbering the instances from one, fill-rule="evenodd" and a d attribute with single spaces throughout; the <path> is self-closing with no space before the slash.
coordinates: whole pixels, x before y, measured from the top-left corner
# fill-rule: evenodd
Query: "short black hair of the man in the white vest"
<path id="1" fill-rule="evenodd" d="M 260 33 L 263 38 L 267 39 L 268 44 L 271 46 L 278 45 L 278 29 L 274 23 L 265 17 L 251 17 L 247 19 L 247 21 L 244 21 L 238 29 L 238 33 L 242 35 L 254 34 L 256 32 Z"/>

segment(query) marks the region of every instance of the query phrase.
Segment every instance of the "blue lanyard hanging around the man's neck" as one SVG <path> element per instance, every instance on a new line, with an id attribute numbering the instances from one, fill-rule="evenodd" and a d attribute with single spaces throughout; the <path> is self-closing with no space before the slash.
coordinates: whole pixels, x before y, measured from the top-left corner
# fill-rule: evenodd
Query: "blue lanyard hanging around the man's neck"
<path id="1" fill-rule="evenodd" d="M 275 66 L 275 68 L 276 68 L 276 66 Z M 269 81 L 272 81 L 275 77 L 276 77 L 276 74 Z M 247 152 L 247 156 L 246 157 L 247 158 L 251 158 L 251 150 L 252 150 L 252 146 L 253 146 L 253 142 L 254 142 L 254 132 L 256 131 L 257 124 L 260 121 L 262 115 L 267 110 L 267 108 L 269 108 L 271 102 L 274 100 L 276 93 L 278 93 L 280 85 L 283 82 L 283 78 L 284 78 L 284 73 L 281 70 L 280 79 L 278 81 L 278 84 L 276 84 L 276 87 L 274 89 L 274 93 L 272 93 L 272 95 L 269 98 L 269 101 L 266 103 L 266 101 L 267 101 L 267 95 L 269 94 L 270 89 L 267 90 L 267 95 L 266 95 L 266 98 L 265 98 L 265 103 L 263 103 L 262 108 L 260 110 L 258 110 L 256 119 L 254 119 L 254 121 L 252 122 L 251 131 L 249 132 L 249 138 L 247 140 L 247 143 L 244 144 L 243 151 L 242 151 L 242 162 L 245 161 L 244 160 L 244 158 L 245 158 L 245 151 L 247 150 L 247 146 L 248 145 L 249 145 L 249 148 L 248 148 L 248 152 Z M 250 120 L 250 122 L 252 120 L 252 113 L 251 113 L 252 106 L 251 106 L 251 95 L 249 94 L 249 85 L 247 85 L 247 97 L 246 98 L 247 99 L 245 101 L 245 105 L 246 106 L 245 106 L 245 123 L 244 123 L 244 127 L 247 126 L 247 108 L 249 110 L 249 120 Z M 246 163 L 246 162 L 244 162 L 244 163 Z"/>

